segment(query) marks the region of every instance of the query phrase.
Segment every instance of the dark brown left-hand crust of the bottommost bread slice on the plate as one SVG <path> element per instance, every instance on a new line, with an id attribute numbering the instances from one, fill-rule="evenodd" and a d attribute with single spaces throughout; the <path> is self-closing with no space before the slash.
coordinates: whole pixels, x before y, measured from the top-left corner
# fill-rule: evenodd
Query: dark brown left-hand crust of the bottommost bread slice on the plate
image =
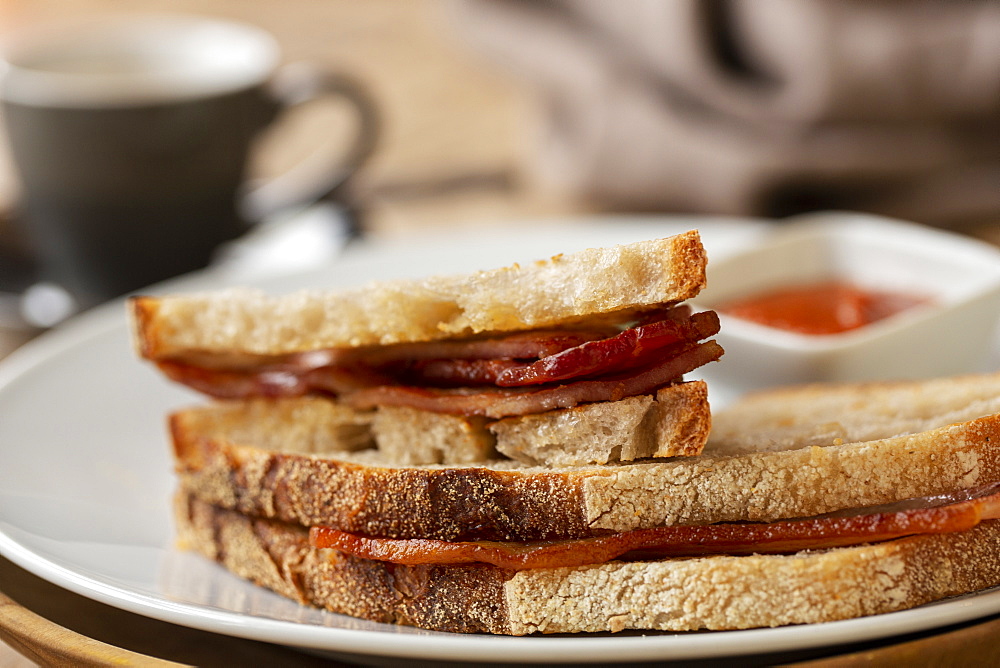
<path id="1" fill-rule="evenodd" d="M 376 622 L 456 633 L 509 633 L 503 583 L 491 566 L 396 566 L 314 550 L 302 527 L 253 519 L 179 493 L 182 548 L 300 603 Z"/>

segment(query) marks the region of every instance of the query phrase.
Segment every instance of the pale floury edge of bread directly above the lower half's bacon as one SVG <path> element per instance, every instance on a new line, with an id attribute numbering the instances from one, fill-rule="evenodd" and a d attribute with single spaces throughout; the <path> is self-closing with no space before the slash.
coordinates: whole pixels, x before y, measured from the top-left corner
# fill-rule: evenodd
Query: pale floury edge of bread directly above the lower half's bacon
<path id="1" fill-rule="evenodd" d="M 1000 479 L 1000 419 L 909 436 L 620 466 L 583 480 L 594 528 L 782 518 L 940 494 Z"/>

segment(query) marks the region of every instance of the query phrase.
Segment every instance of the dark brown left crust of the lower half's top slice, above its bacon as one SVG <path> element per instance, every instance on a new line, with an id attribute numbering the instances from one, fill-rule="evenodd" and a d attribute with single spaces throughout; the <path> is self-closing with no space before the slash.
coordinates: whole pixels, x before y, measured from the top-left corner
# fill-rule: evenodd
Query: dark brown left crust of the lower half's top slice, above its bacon
<path id="1" fill-rule="evenodd" d="M 379 536 L 498 540 L 585 535 L 573 473 L 388 468 L 242 447 L 171 417 L 177 472 L 210 503 Z M 585 469 L 584 469 L 585 470 Z"/>

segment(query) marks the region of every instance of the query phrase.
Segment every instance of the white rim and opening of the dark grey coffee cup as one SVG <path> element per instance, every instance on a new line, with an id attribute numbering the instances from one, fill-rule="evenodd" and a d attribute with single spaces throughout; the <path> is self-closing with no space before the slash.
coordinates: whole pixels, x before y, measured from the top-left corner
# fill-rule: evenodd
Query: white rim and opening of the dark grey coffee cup
<path id="1" fill-rule="evenodd" d="M 145 64 L 52 69 L 53 62 L 78 66 L 87 58 Z M 0 44 L 0 100 L 70 108 L 175 102 L 260 85 L 279 60 L 270 33 L 228 19 L 151 13 L 53 22 L 12 33 Z"/>

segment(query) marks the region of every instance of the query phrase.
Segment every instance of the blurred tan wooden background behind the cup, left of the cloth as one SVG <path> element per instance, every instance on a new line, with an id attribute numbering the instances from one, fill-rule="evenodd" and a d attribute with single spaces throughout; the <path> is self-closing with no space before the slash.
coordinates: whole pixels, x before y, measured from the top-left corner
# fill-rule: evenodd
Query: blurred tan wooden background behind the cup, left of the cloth
<path id="1" fill-rule="evenodd" d="M 256 25 L 275 36 L 283 62 L 350 72 L 377 101 L 379 146 L 353 184 L 372 233 L 561 213 L 566 202 L 545 201 L 517 173 L 529 91 L 469 47 L 455 8 L 441 0 L 5 0 L 0 38 L 50 22 L 148 12 Z M 349 125 L 323 105 L 302 109 L 261 138 L 252 173 L 280 173 L 318 142 L 343 140 Z M 7 152 L 2 158 L 0 202 L 9 210 L 18 179 Z"/>

